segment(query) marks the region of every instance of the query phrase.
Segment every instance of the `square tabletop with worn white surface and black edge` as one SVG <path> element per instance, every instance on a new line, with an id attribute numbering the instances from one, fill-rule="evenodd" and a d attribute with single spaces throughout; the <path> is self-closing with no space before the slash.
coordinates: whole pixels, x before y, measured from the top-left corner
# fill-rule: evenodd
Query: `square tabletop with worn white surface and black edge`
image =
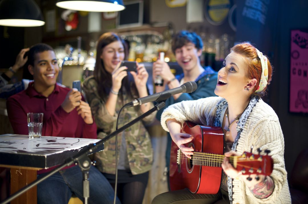
<path id="1" fill-rule="evenodd" d="M 71 137 L 0 135 L 0 164 L 47 169 L 63 164 L 67 158 L 98 141 Z"/>

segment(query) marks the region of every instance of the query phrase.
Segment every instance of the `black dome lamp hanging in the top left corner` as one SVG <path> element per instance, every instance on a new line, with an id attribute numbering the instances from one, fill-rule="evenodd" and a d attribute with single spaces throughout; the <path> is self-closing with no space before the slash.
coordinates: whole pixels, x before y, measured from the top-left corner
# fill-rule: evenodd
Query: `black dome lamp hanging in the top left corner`
<path id="1" fill-rule="evenodd" d="M 41 10 L 33 0 L 0 1 L 0 25 L 34 27 L 44 24 Z"/>

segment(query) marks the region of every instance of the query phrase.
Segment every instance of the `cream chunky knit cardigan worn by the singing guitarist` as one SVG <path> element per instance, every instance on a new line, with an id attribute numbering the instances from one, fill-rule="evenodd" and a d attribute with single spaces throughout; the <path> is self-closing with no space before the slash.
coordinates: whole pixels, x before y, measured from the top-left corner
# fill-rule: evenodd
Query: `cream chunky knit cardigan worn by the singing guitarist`
<path id="1" fill-rule="evenodd" d="M 201 98 L 195 101 L 183 101 L 173 104 L 164 110 L 161 116 L 161 125 L 168 131 L 166 120 L 176 119 L 180 123 L 188 120 L 196 124 L 214 126 L 217 104 L 221 97 Z M 221 124 L 224 111 L 221 112 Z M 274 181 L 274 191 L 264 199 L 256 198 L 241 180 L 232 181 L 232 203 L 291 203 L 290 191 L 287 182 L 287 172 L 284 162 L 284 138 L 280 123 L 275 111 L 262 99 L 256 103 L 245 123 L 240 138 L 238 139 L 236 152 L 242 154 L 250 152 L 257 154 L 257 148 L 269 149 L 270 156 L 274 160 L 274 170 L 270 177 Z M 229 192 L 230 194 L 230 192 Z"/>

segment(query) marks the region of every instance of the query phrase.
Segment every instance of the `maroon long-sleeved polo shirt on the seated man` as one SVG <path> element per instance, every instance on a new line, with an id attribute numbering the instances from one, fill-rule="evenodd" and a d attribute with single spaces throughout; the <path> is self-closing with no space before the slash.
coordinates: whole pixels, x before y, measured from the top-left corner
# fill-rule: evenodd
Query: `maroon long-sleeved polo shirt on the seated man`
<path id="1" fill-rule="evenodd" d="M 28 135 L 27 113 L 44 113 L 42 136 L 75 137 L 97 139 L 96 124 L 84 123 L 76 108 L 67 113 L 61 107 L 69 88 L 55 85 L 55 89 L 45 97 L 29 83 L 26 90 L 7 99 L 6 108 L 15 134 Z M 51 171 L 40 170 L 38 173 Z"/>

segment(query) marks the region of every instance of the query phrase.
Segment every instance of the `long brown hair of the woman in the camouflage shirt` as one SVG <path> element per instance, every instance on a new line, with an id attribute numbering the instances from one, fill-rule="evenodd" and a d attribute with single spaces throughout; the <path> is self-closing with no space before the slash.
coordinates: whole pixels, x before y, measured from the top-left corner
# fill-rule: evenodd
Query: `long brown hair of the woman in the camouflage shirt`
<path id="1" fill-rule="evenodd" d="M 105 100 L 110 92 L 110 89 L 112 87 L 112 77 L 109 72 L 106 71 L 104 67 L 103 60 L 100 58 L 103 49 L 110 43 L 113 43 L 115 41 L 120 41 L 123 44 L 124 47 L 124 53 L 126 53 L 127 45 L 124 43 L 124 41 L 115 33 L 113 32 L 107 32 L 104 33 L 99 37 L 99 40 L 97 42 L 97 48 L 96 48 L 96 61 L 95 61 L 95 69 L 94 69 L 94 78 L 95 81 L 98 84 L 98 93 L 100 97 Z M 129 75 L 130 73 L 128 73 Z M 135 84 L 135 83 L 134 83 Z M 130 81 L 128 80 L 128 76 L 124 77 L 122 81 L 122 86 L 120 89 L 120 92 L 122 93 L 122 89 L 125 87 L 128 94 L 133 96 L 134 94 L 131 93 L 130 90 Z M 134 85 L 136 87 L 136 85 Z M 137 88 L 136 88 L 137 89 Z"/>

